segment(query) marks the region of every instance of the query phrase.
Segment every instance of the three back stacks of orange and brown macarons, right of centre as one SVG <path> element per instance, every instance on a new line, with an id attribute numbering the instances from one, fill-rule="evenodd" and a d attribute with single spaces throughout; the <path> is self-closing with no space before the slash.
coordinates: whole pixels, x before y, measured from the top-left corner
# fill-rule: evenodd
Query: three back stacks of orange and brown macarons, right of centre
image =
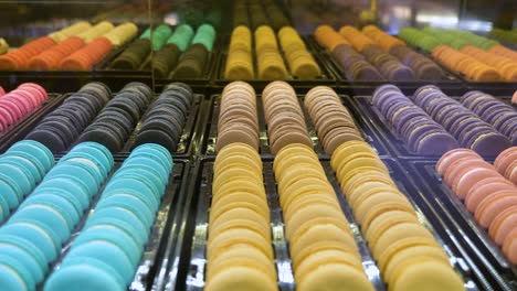
<path id="1" fill-rule="evenodd" d="M 362 31 L 347 25 L 339 33 L 329 25 L 319 25 L 314 35 L 351 80 L 445 78 L 443 69 L 432 60 L 374 25 Z"/>

